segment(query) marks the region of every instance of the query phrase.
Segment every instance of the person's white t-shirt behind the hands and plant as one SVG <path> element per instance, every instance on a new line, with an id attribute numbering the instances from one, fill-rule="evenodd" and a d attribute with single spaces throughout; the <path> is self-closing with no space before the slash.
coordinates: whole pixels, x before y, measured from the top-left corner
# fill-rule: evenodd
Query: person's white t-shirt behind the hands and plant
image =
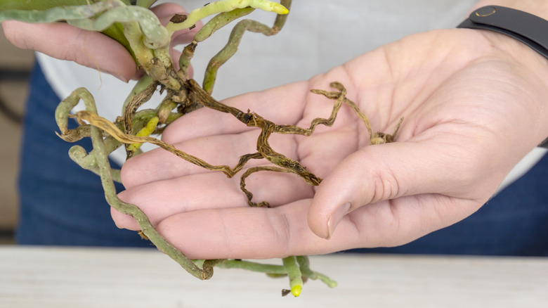
<path id="1" fill-rule="evenodd" d="M 168 1 L 158 1 L 158 3 Z M 187 11 L 203 6 L 206 0 L 170 1 Z M 240 47 L 218 70 L 213 96 L 227 98 L 248 91 L 268 89 L 288 82 L 306 80 L 345 63 L 355 56 L 400 39 L 407 34 L 452 28 L 467 17 L 476 0 L 296 0 L 284 29 L 273 37 L 247 32 Z M 274 14 L 259 10 L 247 16 L 267 25 Z M 200 81 L 204 69 L 228 39 L 231 27 L 216 32 L 198 44 L 192 65 Z M 344 48 L 331 48 L 332 41 Z M 122 112 L 122 103 L 134 82 L 125 84 L 115 77 L 99 74 L 69 61 L 38 54 L 46 79 L 60 98 L 85 86 L 103 117 L 114 120 Z M 283 60 L 283 65 L 277 59 Z M 159 98 L 153 99 L 156 105 Z M 150 106 L 152 106 L 150 105 Z M 535 149 L 507 177 L 503 185 L 521 177 L 545 151 Z M 125 153 L 112 153 L 122 164 Z"/>

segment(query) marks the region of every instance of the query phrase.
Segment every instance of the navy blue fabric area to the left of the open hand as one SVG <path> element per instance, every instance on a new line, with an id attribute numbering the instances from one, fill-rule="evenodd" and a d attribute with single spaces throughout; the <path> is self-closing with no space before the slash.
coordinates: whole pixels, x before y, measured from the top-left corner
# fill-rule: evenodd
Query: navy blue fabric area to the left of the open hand
<path id="1" fill-rule="evenodd" d="M 53 115 L 59 101 L 35 65 L 24 122 L 15 240 L 28 245 L 150 247 L 136 232 L 115 226 L 99 177 L 70 160 L 70 147 L 78 144 L 89 151 L 91 140 L 68 143 L 56 135 Z"/>

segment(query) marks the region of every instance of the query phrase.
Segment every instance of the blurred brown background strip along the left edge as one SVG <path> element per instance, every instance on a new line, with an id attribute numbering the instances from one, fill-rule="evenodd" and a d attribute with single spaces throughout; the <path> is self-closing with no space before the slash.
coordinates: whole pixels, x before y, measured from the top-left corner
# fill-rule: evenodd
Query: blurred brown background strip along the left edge
<path id="1" fill-rule="evenodd" d="M 34 53 L 13 46 L 0 28 L 0 245 L 14 243 L 18 221 L 20 122 L 33 61 Z"/>

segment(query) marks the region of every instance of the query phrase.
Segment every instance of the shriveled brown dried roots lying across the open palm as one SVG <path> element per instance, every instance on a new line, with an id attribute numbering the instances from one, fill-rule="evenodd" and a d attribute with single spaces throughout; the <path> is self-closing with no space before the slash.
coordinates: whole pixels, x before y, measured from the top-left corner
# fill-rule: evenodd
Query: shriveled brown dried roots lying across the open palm
<path id="1" fill-rule="evenodd" d="M 315 130 L 315 128 L 318 127 L 319 124 L 322 124 L 325 126 L 332 126 L 332 124 L 334 124 L 334 121 L 337 117 L 337 113 L 339 112 L 341 108 L 341 105 L 343 103 L 346 103 L 348 106 L 352 108 L 352 110 L 354 110 L 355 114 L 358 115 L 358 117 L 360 117 L 360 119 L 363 120 L 363 122 L 365 123 L 365 126 L 370 132 L 370 144 L 393 142 L 398 132 L 398 129 L 400 127 L 400 124 L 403 121 L 403 118 L 398 123 L 393 134 L 385 134 L 382 132 L 373 133 L 367 116 L 358 108 L 358 105 L 356 105 L 353 101 L 346 98 L 346 89 L 344 89 L 344 86 L 342 86 L 342 84 L 340 84 L 339 82 L 333 82 L 331 85 L 334 88 L 339 89 L 339 91 L 311 90 L 315 94 L 321 94 L 326 96 L 327 98 L 331 98 L 335 100 L 334 107 L 330 117 L 327 119 L 320 118 L 320 117 L 315 118 L 314 120 L 312 120 L 310 127 L 308 127 L 308 129 L 304 129 L 302 127 L 297 127 L 294 125 L 278 125 L 266 120 L 265 118 L 261 117 L 260 115 L 257 115 L 256 113 L 251 113 L 249 111 L 247 113 L 244 113 L 242 110 L 225 105 L 219 101 L 216 101 L 214 98 L 212 98 L 193 79 L 189 79 L 187 82 L 187 89 L 188 89 L 187 91 L 188 91 L 188 97 L 191 101 L 193 101 L 194 103 L 195 102 L 200 103 L 201 105 L 204 105 L 207 108 L 218 110 L 223 113 L 230 113 L 234 115 L 238 120 L 240 120 L 240 122 L 242 122 L 243 124 L 246 124 L 249 127 L 258 127 L 259 129 L 261 129 L 261 134 L 259 134 L 259 137 L 257 139 L 257 148 L 256 148 L 257 152 L 242 155 L 242 157 L 240 157 L 239 162 L 237 162 L 237 164 L 234 167 L 230 167 L 228 165 L 211 165 L 200 158 L 197 158 L 193 155 L 190 155 L 181 150 L 178 150 L 177 148 L 175 148 L 169 143 L 165 143 L 164 141 L 161 141 L 154 137 L 147 136 L 148 134 L 152 133 L 152 131 L 155 130 L 155 124 L 157 124 L 157 121 L 154 122 L 152 126 L 150 126 L 150 122 L 149 122 L 149 125 L 145 129 L 146 131 L 145 134 L 138 134 L 140 136 L 133 136 L 131 134 L 125 134 L 115 124 L 106 120 L 103 117 L 100 117 L 96 113 L 92 113 L 90 111 L 84 110 L 84 111 L 79 111 L 78 113 L 76 113 L 75 116 L 77 117 L 77 120 L 79 120 L 80 122 L 86 121 L 89 124 L 93 125 L 94 127 L 98 127 L 101 130 L 105 131 L 107 134 L 115 138 L 117 141 L 121 143 L 131 144 L 133 148 L 136 148 L 137 145 L 140 143 L 152 143 L 152 144 L 155 144 L 156 146 L 164 148 L 164 150 L 168 150 L 170 153 L 177 155 L 179 158 L 182 158 L 183 160 L 193 163 L 194 165 L 198 165 L 200 167 L 203 167 L 205 169 L 209 169 L 212 171 L 221 171 L 224 174 L 226 174 L 227 177 L 234 177 L 235 174 L 240 172 L 240 170 L 247 164 L 249 160 L 266 159 L 269 162 L 273 163 L 274 166 L 252 167 L 247 169 L 247 171 L 244 172 L 244 174 L 242 174 L 242 177 L 240 179 L 240 187 L 242 188 L 242 191 L 247 195 L 249 205 L 268 206 L 268 202 L 266 201 L 263 201 L 261 203 L 254 203 L 252 201 L 253 194 L 247 191 L 247 189 L 245 188 L 245 179 L 247 179 L 247 177 L 249 177 L 249 175 L 254 172 L 270 171 L 270 172 L 294 173 L 299 175 L 299 177 L 303 178 L 308 184 L 312 186 L 318 186 L 322 181 L 322 179 L 320 179 L 315 174 L 308 171 L 306 167 L 301 165 L 300 162 L 297 162 L 296 160 L 292 160 L 291 158 L 288 158 L 287 156 L 273 150 L 273 148 L 268 143 L 268 139 L 270 138 L 271 134 L 273 133 L 299 134 L 304 136 L 310 136 Z M 84 122 L 82 122 L 82 124 L 84 124 Z M 71 138 L 74 138 L 74 137 L 71 136 Z"/>

